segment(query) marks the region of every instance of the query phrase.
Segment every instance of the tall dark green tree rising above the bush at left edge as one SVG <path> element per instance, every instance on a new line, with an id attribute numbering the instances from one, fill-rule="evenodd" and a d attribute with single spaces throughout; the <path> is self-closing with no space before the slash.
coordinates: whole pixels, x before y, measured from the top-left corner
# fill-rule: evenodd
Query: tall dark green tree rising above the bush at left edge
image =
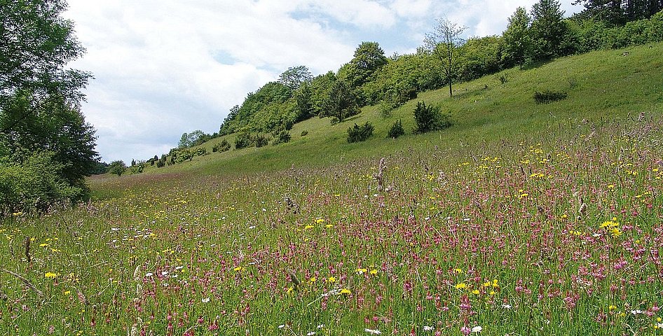
<path id="1" fill-rule="evenodd" d="M 0 0 L 0 156 L 20 164 L 51 153 L 41 162 L 85 190 L 98 157 L 95 130 L 80 111 L 91 76 L 66 68 L 84 51 L 73 23 L 60 16 L 66 9 L 63 0 Z"/>

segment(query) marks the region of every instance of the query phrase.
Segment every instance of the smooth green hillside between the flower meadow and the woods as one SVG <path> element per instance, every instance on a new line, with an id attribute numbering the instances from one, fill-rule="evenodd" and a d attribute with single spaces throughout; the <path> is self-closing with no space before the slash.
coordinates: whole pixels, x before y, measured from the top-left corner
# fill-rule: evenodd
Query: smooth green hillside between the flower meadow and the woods
<path id="1" fill-rule="evenodd" d="M 555 127 L 581 120 L 611 120 L 661 111 L 663 106 L 663 44 L 626 50 L 605 50 L 564 57 L 533 69 L 510 69 L 469 83 L 424 92 L 387 119 L 377 106 L 369 106 L 352 120 L 330 125 L 329 118 L 313 118 L 296 124 L 292 141 L 279 146 L 245 148 L 212 153 L 212 146 L 224 138 L 203 145 L 210 155 L 168 168 L 169 172 L 191 169 L 203 174 L 237 174 L 295 167 L 322 167 L 334 162 L 388 155 L 412 148 L 425 151 L 461 145 L 493 144 L 501 139 L 527 136 L 533 132 L 554 132 Z M 627 55 L 624 55 L 627 54 Z M 501 83 L 500 77 L 506 78 Z M 563 90 L 568 98 L 553 104 L 535 104 L 535 90 Z M 423 101 L 442 106 L 451 113 L 453 127 L 443 132 L 385 139 L 391 125 L 401 119 L 406 133 L 414 128 L 413 109 Z M 346 143 L 346 130 L 354 123 L 374 124 L 374 136 L 359 144 Z M 308 131 L 301 137 L 302 131 Z M 226 137 L 231 144 L 234 135 Z M 479 146 L 480 147 L 480 146 Z M 199 174 L 199 173 L 195 173 Z"/>

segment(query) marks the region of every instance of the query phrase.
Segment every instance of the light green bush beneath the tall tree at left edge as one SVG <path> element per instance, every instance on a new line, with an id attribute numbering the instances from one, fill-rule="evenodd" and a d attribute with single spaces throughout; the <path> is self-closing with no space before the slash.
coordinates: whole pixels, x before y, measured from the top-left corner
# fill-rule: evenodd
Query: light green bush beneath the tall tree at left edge
<path id="1" fill-rule="evenodd" d="M 48 152 L 23 160 L 0 158 L 0 215 L 44 211 L 55 203 L 80 200 L 86 188 L 69 185 L 63 167 Z"/>

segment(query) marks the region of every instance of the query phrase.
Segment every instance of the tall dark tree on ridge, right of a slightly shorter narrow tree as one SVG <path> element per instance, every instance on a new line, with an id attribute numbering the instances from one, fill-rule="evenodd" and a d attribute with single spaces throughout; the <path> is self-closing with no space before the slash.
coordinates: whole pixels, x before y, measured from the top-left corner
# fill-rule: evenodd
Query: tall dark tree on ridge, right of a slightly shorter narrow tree
<path id="1" fill-rule="evenodd" d="M 564 55 L 563 42 L 568 36 L 568 27 L 563 21 L 564 11 L 556 0 L 539 0 L 532 8 L 531 36 L 532 58 L 552 59 Z"/>

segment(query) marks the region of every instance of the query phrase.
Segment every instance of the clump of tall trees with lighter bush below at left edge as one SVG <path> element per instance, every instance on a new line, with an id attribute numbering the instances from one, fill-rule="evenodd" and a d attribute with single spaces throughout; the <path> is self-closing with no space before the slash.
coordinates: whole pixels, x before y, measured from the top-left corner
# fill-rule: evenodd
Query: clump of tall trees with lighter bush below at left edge
<path id="1" fill-rule="evenodd" d="M 99 169 L 81 113 L 90 73 L 64 0 L 0 1 L 0 216 L 85 197 Z"/>

